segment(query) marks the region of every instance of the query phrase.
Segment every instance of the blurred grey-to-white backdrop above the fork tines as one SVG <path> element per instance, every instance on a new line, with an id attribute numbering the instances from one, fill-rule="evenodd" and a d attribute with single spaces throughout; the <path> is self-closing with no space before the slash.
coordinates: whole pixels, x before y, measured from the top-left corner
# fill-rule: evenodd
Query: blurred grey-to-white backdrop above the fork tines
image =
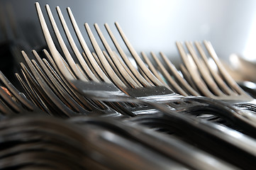
<path id="1" fill-rule="evenodd" d="M 35 1 L 0 2 L 4 8 L 11 4 L 21 38 L 26 38 L 33 48 L 45 44 Z M 209 40 L 223 60 L 234 52 L 251 60 L 256 58 L 256 1 L 253 0 L 40 0 L 39 3 L 44 13 L 45 4 L 50 4 L 56 17 L 55 7 L 60 6 L 68 18 L 65 8 L 69 6 L 85 37 L 85 22 L 91 27 L 98 23 L 101 30 L 108 23 L 117 33 L 113 23 L 118 21 L 135 50 L 162 51 L 174 62 L 179 60 L 174 43 L 177 40 Z"/>

